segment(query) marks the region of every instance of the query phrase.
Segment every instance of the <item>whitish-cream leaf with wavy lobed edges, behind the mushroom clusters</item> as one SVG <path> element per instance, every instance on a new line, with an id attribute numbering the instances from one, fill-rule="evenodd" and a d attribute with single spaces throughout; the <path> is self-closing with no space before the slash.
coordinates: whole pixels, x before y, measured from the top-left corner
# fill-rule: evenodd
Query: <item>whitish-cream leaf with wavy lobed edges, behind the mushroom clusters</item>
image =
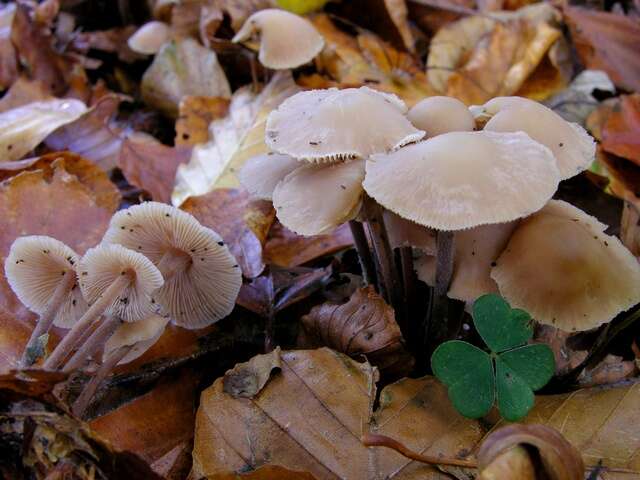
<path id="1" fill-rule="evenodd" d="M 298 91 L 288 71 L 276 73 L 258 95 L 249 87 L 236 90 L 228 115 L 209 125 L 209 141 L 194 147 L 189 163 L 178 168 L 172 203 L 180 205 L 214 188 L 238 187 L 234 172 L 248 158 L 267 151 L 267 115 Z"/>

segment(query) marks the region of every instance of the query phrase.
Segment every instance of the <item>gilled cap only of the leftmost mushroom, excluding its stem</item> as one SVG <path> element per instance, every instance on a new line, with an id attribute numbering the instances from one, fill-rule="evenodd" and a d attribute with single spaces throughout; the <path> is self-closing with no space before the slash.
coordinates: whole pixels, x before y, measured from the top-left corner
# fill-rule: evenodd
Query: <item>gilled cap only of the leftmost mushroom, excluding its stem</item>
<path id="1" fill-rule="evenodd" d="M 78 255 L 55 238 L 31 235 L 17 238 L 4 263 L 11 289 L 30 310 L 42 314 L 65 275 L 76 276 Z M 55 316 L 54 324 L 70 328 L 87 309 L 74 286 Z"/>

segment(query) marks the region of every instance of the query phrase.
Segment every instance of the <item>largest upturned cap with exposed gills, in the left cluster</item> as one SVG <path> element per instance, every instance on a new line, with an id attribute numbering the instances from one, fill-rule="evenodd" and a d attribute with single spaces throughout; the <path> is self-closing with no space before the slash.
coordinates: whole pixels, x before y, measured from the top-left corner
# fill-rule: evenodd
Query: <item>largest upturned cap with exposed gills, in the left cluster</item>
<path id="1" fill-rule="evenodd" d="M 141 252 L 161 269 L 163 257 L 173 257 L 177 268 L 154 298 L 177 325 L 203 328 L 233 310 L 242 285 L 238 263 L 222 238 L 187 212 L 158 202 L 134 205 L 113 216 L 104 242 Z"/>

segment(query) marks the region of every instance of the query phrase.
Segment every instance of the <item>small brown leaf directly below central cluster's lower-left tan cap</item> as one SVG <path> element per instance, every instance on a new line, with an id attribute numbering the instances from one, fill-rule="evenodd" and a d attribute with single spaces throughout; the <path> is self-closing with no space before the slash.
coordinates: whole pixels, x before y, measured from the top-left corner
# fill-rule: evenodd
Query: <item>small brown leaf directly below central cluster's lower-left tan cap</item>
<path id="1" fill-rule="evenodd" d="M 263 257 L 270 265 L 290 268 L 334 254 L 352 245 L 353 237 L 346 223 L 327 235 L 303 237 L 276 221 L 269 230 Z"/>

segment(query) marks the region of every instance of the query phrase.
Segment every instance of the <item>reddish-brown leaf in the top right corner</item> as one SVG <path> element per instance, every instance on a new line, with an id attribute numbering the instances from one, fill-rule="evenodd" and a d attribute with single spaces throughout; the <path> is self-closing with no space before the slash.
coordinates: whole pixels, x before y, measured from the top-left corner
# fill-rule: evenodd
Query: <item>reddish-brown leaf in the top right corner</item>
<path id="1" fill-rule="evenodd" d="M 564 7 L 564 18 L 582 63 L 604 70 L 616 86 L 640 90 L 640 22 L 637 18 Z"/>

